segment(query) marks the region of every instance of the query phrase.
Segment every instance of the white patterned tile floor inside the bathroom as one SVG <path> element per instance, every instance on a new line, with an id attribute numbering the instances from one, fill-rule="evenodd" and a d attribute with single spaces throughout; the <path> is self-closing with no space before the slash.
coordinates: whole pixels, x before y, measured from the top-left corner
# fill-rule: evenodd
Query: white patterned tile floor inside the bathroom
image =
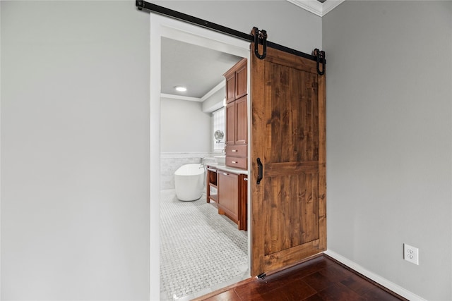
<path id="1" fill-rule="evenodd" d="M 191 300 L 249 278 L 247 233 L 206 195 L 181 202 L 160 194 L 160 300 Z"/>

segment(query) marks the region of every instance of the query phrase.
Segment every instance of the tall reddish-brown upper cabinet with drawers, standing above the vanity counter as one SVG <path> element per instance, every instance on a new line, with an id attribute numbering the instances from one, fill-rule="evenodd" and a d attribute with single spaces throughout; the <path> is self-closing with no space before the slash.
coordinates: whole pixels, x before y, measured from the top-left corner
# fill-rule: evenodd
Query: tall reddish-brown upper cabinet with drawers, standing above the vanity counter
<path id="1" fill-rule="evenodd" d="M 248 168 L 247 151 L 233 153 L 228 149 L 248 145 L 248 112 L 246 59 L 225 73 L 226 78 L 226 165 Z"/>

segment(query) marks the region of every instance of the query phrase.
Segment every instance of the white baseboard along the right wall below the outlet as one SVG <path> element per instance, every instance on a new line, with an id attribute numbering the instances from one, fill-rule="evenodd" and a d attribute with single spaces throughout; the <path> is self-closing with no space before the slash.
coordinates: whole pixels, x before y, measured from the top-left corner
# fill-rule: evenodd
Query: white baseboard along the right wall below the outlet
<path id="1" fill-rule="evenodd" d="M 408 300 L 427 301 L 424 298 L 422 298 L 418 295 L 415 295 L 414 293 L 411 293 L 409 290 L 405 290 L 405 288 L 400 287 L 396 283 L 388 281 L 387 279 L 385 279 L 377 274 L 374 274 L 367 269 L 364 269 L 364 267 L 360 266 L 359 264 L 357 264 L 355 262 L 352 262 L 350 259 L 347 259 L 336 252 L 333 252 L 331 250 L 326 250 L 323 253 L 328 255 L 329 257 L 333 257 L 338 262 L 350 267 L 350 269 L 354 269 L 359 274 L 362 274 L 362 275 L 366 276 L 367 278 L 375 281 L 376 283 L 379 283 L 379 285 L 383 285 L 385 288 L 388 288 L 388 290 L 392 290 L 394 293 L 396 293 Z"/>

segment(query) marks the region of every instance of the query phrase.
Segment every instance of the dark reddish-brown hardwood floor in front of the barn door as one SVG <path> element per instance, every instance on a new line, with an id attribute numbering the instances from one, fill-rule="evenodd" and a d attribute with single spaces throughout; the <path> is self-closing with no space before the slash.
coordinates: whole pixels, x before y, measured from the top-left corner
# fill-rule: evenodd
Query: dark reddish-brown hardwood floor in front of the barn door
<path id="1" fill-rule="evenodd" d="M 321 254 L 264 279 L 250 278 L 196 301 L 254 300 L 406 300 Z"/>

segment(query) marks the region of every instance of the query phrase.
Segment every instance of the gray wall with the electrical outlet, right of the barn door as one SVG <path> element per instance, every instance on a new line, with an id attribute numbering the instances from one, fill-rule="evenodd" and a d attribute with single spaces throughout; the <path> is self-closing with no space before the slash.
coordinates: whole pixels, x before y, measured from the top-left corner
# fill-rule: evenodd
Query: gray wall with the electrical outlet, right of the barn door
<path id="1" fill-rule="evenodd" d="M 328 249 L 452 300 L 452 2 L 345 1 L 323 50 Z"/>

